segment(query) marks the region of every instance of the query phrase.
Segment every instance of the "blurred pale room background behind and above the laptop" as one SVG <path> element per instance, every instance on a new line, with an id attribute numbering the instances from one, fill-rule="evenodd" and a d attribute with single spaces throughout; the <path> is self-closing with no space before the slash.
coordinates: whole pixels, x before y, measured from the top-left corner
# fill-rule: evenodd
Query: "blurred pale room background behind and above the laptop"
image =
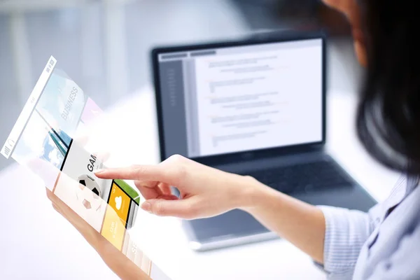
<path id="1" fill-rule="evenodd" d="M 325 28 L 329 87 L 357 89 L 346 20 L 321 0 L 0 0 L 0 145 L 50 55 L 107 109 L 151 83 L 155 45 Z M 0 157 L 0 170 L 13 160 Z"/>

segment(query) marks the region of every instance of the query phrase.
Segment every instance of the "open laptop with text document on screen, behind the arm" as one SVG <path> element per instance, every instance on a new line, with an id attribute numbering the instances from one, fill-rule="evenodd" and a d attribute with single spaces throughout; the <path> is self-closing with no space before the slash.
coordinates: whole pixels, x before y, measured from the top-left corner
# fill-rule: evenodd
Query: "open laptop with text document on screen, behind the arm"
<path id="1" fill-rule="evenodd" d="M 324 149 L 325 55 L 318 32 L 153 49 L 161 160 L 180 154 L 367 211 L 374 199 Z M 182 223 L 196 251 L 277 237 L 240 210 Z"/>

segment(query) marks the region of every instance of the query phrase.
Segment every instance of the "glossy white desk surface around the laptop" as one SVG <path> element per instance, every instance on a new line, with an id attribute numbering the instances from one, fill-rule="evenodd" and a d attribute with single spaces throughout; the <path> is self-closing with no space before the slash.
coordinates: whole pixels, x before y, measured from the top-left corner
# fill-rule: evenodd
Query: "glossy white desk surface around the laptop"
<path id="1" fill-rule="evenodd" d="M 356 141 L 354 97 L 330 93 L 328 148 L 356 180 L 383 200 L 398 174 L 373 162 Z M 154 108 L 152 91 L 146 88 L 109 111 L 109 127 L 125 134 L 109 139 L 120 156 L 114 162 L 158 162 Z M 0 279 L 117 278 L 52 209 L 36 175 L 13 165 L 0 173 L 0 179 Z M 139 218 L 137 223 L 148 225 L 136 227 L 146 253 L 174 280 L 325 279 L 306 255 L 280 239 L 195 253 L 187 248 L 176 219 L 148 214 Z"/>

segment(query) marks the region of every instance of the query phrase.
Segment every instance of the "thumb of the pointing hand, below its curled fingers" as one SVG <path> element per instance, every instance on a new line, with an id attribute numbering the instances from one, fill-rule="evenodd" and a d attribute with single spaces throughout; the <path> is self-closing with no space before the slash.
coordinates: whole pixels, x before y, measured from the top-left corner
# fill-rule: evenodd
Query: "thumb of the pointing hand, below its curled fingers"
<path id="1" fill-rule="evenodd" d="M 177 218 L 194 218 L 197 211 L 193 209 L 191 200 L 146 200 L 141 209 L 157 216 L 174 216 Z"/>

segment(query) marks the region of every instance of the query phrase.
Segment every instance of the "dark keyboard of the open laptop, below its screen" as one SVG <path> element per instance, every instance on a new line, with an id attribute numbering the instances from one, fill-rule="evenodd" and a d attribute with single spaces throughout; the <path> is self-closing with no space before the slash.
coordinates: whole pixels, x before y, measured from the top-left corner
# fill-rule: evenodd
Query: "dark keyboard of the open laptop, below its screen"
<path id="1" fill-rule="evenodd" d="M 351 187 L 353 184 L 339 171 L 334 162 L 322 160 L 287 167 L 276 167 L 259 172 L 248 172 L 281 193 L 310 193 L 316 190 Z"/>

